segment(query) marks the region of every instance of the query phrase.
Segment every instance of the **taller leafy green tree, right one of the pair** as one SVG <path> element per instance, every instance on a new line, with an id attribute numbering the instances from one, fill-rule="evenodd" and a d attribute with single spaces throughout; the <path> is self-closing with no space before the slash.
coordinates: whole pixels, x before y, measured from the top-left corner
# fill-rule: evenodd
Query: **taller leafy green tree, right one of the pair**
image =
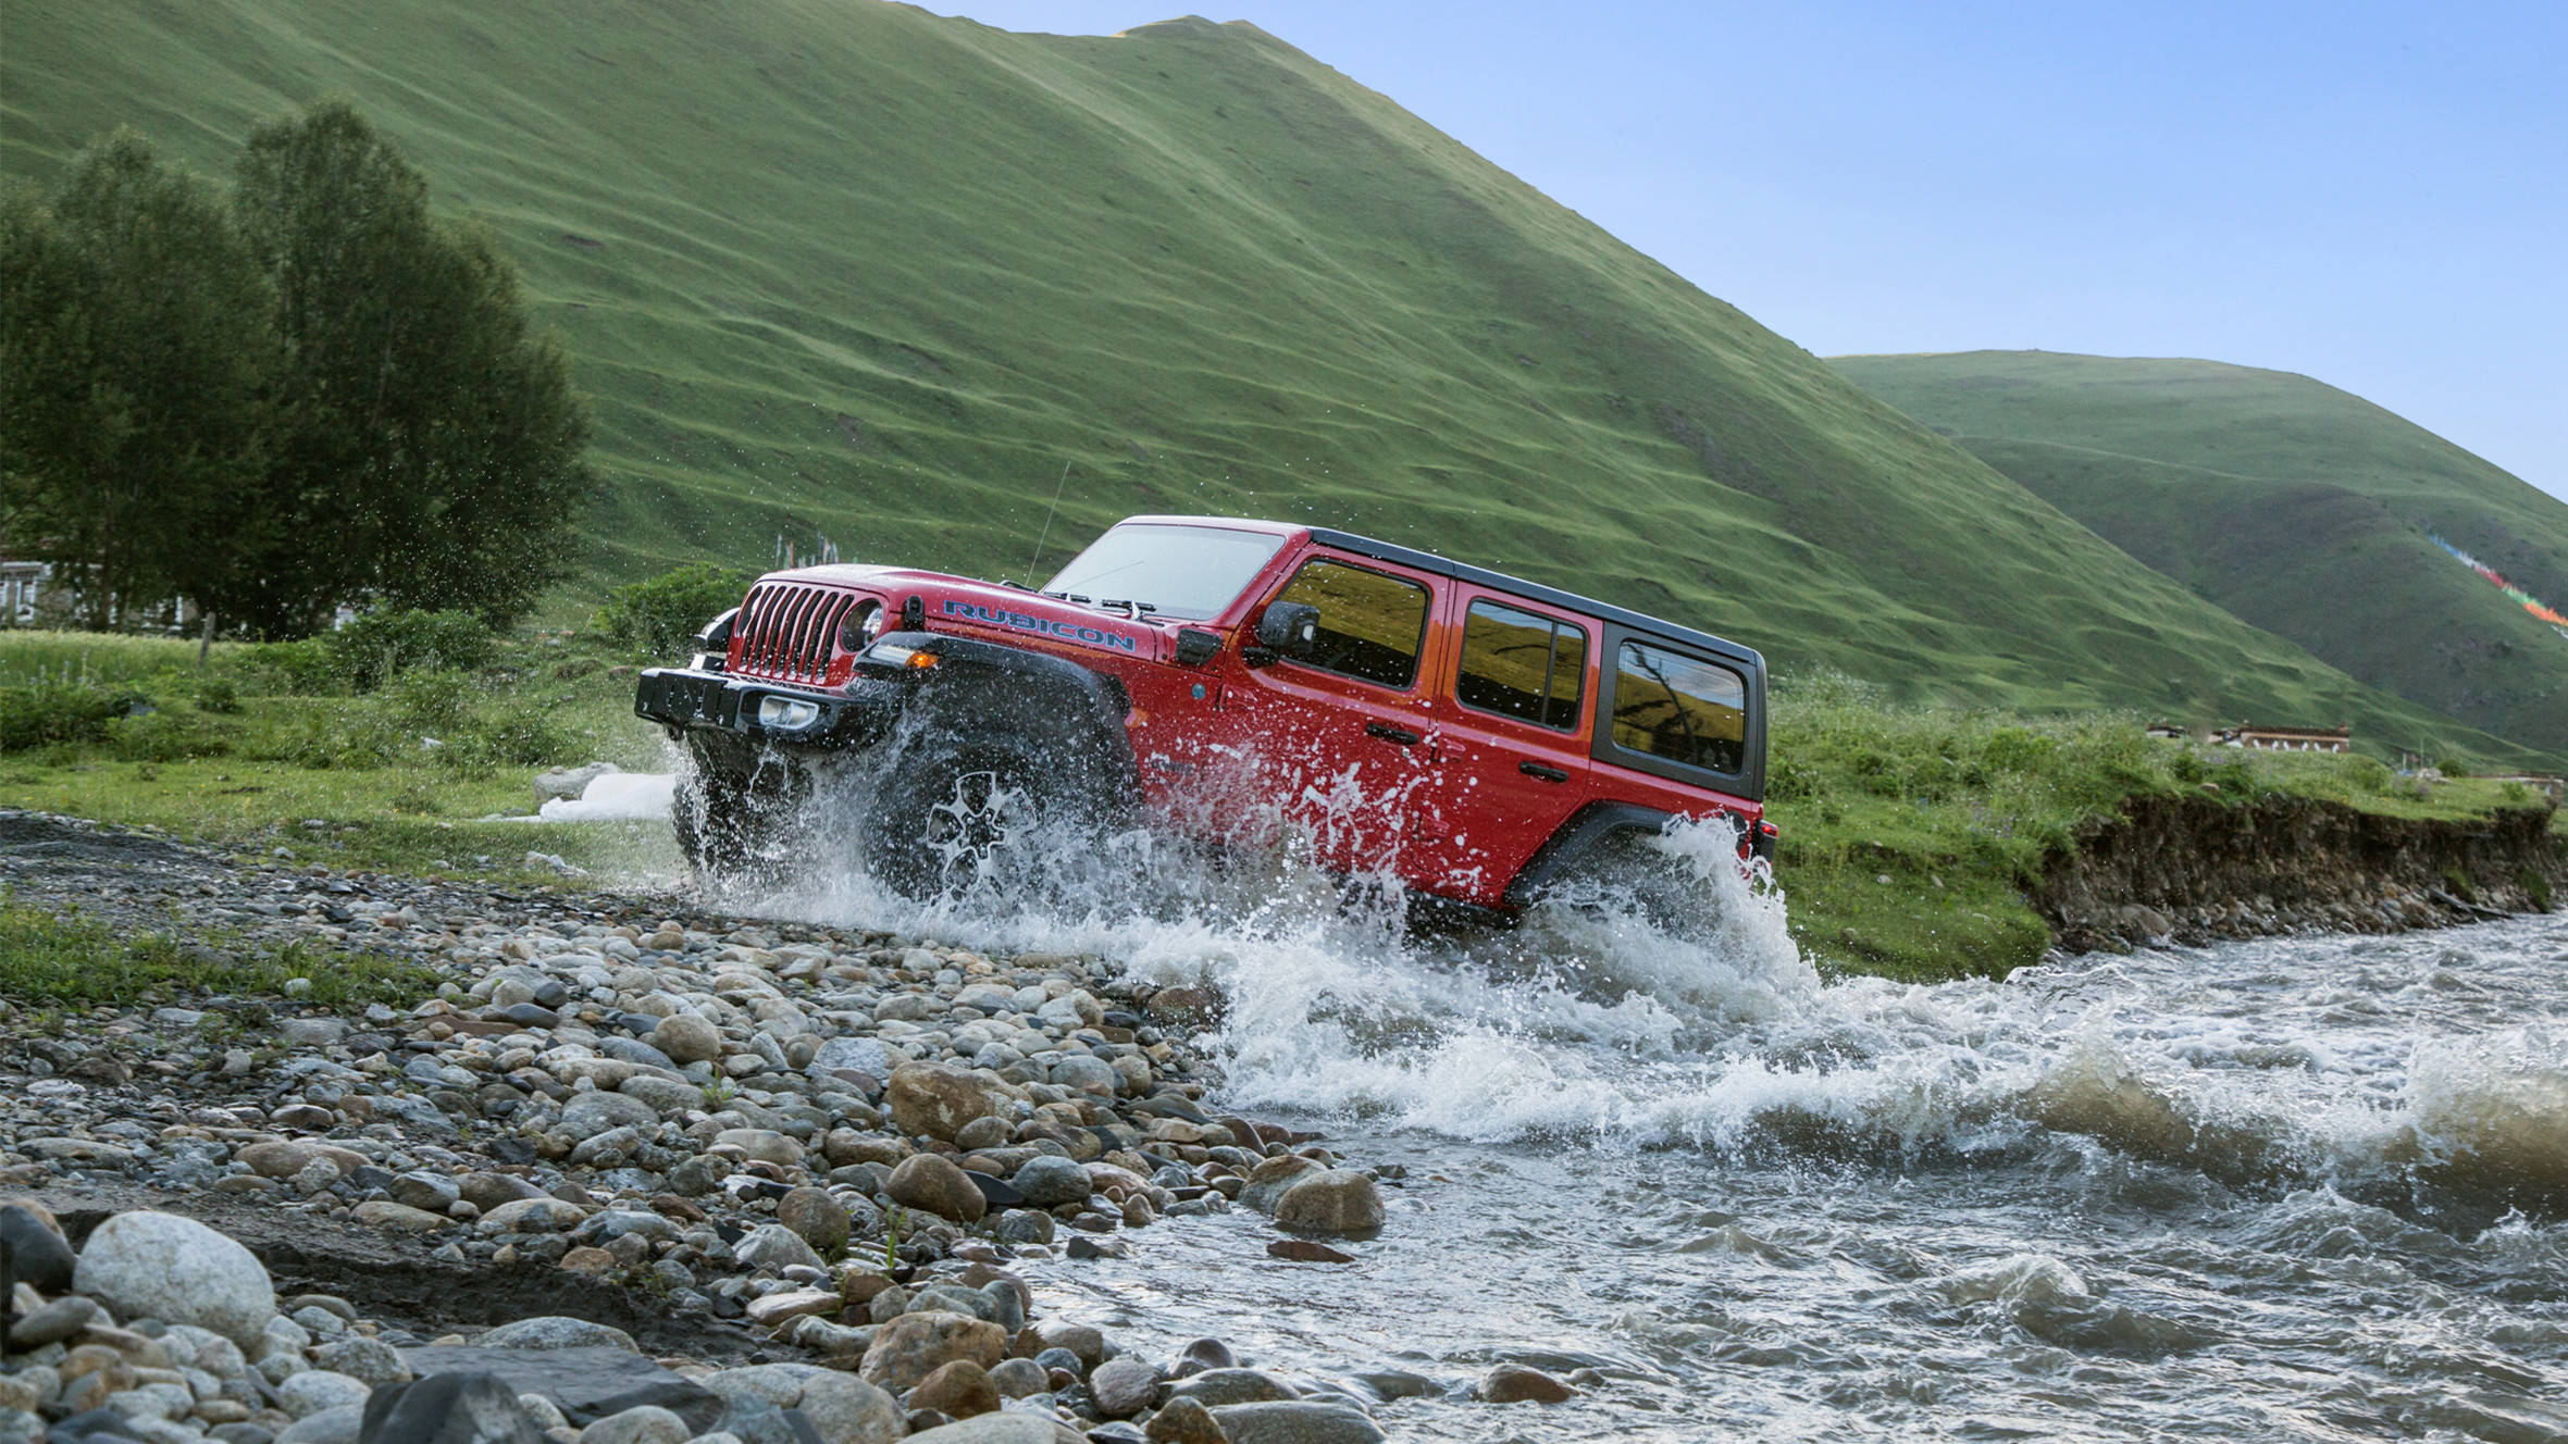
<path id="1" fill-rule="evenodd" d="M 588 419 L 490 239 L 344 100 L 262 123 L 234 206 L 285 342 L 275 480 L 295 527 L 262 558 L 277 632 L 344 599 L 521 617 L 596 491 Z"/>

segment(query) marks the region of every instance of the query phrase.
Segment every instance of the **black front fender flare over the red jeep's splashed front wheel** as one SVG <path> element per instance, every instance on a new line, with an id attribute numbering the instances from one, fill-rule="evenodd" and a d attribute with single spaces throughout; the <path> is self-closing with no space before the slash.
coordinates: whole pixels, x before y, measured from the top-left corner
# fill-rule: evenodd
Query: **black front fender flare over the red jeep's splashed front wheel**
<path id="1" fill-rule="evenodd" d="M 919 725 L 894 766 L 914 750 L 999 750 L 1050 771 L 1091 802 L 1140 799 L 1140 761 L 1125 732 L 1132 701 L 1117 678 L 1050 653 L 942 632 L 894 632 L 883 642 L 937 655 L 909 704 Z"/>

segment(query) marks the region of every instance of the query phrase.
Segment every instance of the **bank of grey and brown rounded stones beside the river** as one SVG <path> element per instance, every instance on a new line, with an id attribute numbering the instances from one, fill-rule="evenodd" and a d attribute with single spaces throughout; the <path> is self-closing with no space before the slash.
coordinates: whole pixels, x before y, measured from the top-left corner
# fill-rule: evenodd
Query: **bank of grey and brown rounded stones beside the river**
<path id="1" fill-rule="evenodd" d="M 437 979 L 354 1015 L 293 979 L 0 999 L 0 1441 L 1356 1444 L 1394 1398 L 1595 1382 L 1269 1372 L 1048 1318 L 1037 1267 L 1233 1210 L 1271 1218 L 1266 1267 L 1338 1267 L 1407 1187 L 1207 1107 L 1194 987 L 26 812 L 0 892 Z"/>

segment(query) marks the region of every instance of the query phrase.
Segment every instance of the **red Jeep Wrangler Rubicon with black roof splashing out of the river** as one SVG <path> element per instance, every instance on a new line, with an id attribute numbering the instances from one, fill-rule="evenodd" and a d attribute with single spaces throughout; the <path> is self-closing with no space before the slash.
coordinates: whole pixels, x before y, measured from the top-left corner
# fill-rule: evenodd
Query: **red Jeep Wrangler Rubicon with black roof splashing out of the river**
<path id="1" fill-rule="evenodd" d="M 691 753 L 675 825 L 706 874 L 845 750 L 883 761 L 865 866 L 909 894 L 991 876 L 1030 822 L 1135 809 L 1500 912 L 1672 817 L 1774 848 L 1754 650 L 1346 532 L 1135 516 L 1043 591 L 783 570 L 698 645 L 634 712 Z"/>

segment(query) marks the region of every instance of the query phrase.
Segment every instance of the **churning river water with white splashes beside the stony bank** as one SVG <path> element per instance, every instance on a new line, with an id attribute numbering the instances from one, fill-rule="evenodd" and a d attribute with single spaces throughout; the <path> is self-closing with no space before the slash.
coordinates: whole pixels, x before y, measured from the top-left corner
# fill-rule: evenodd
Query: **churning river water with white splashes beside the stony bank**
<path id="1" fill-rule="evenodd" d="M 1831 982 L 1726 850 L 1669 845 L 1697 917 L 1469 943 L 1112 850 L 1040 907 L 768 907 L 1217 982 L 1220 1102 L 1405 1169 L 1387 1228 L 1171 1220 L 1037 1285 L 1394 1439 L 2568 1439 L 2568 920 Z M 1497 1362 L 1587 1387 L 1466 1403 Z"/>

